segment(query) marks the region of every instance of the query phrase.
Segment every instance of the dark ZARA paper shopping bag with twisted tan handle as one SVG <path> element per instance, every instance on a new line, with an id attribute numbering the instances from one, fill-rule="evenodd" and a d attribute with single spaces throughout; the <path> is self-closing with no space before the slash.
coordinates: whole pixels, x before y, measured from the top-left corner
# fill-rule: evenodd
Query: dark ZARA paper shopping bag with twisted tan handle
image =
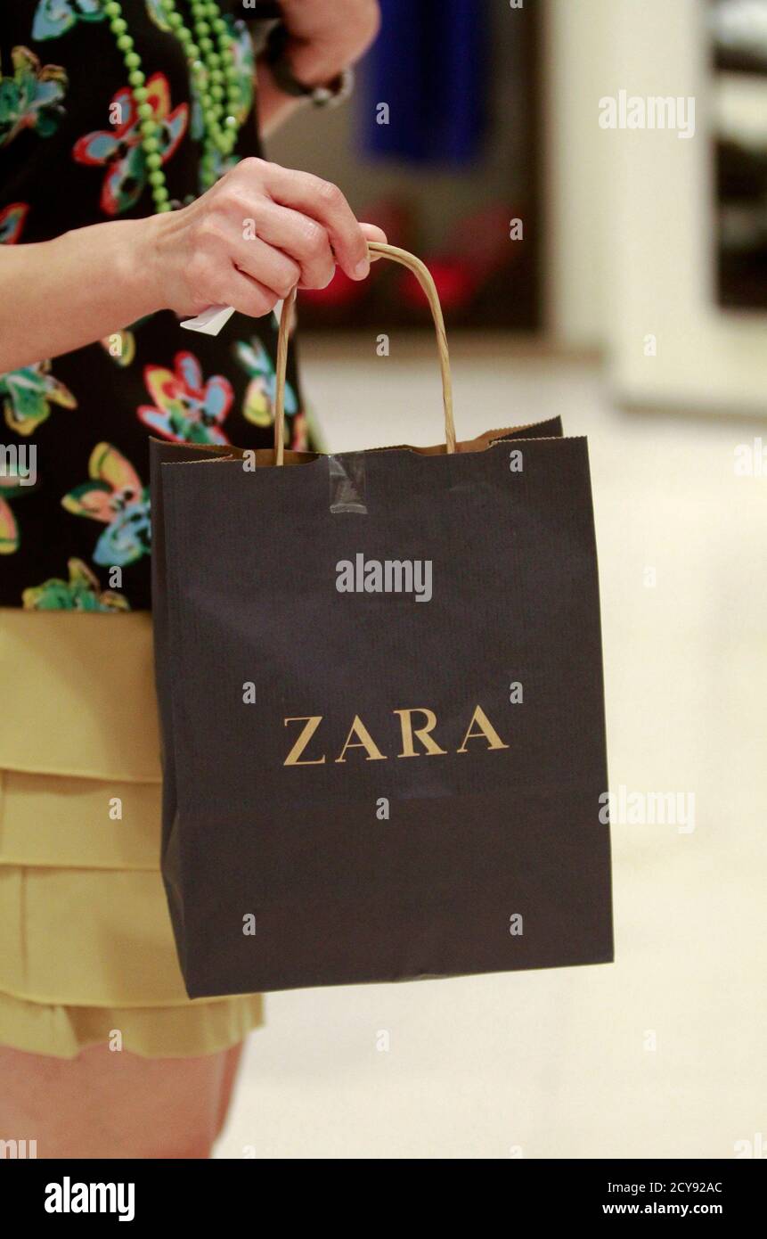
<path id="1" fill-rule="evenodd" d="M 192 997 L 612 959 L 594 517 L 559 420 L 152 444 L 162 873 Z M 364 390 L 359 393 L 361 413 Z"/>

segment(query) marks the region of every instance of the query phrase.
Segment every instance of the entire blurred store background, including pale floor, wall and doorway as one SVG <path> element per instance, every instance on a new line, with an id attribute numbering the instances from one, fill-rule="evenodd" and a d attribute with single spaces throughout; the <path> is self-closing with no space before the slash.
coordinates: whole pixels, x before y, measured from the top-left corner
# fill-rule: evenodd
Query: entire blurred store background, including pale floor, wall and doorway
<path id="1" fill-rule="evenodd" d="M 221 1156 L 732 1156 L 766 1082 L 767 0 L 383 11 L 353 100 L 269 156 L 432 266 L 460 439 L 589 436 L 611 786 L 691 789 L 696 828 L 613 828 L 613 966 L 270 996 Z M 602 124 L 621 98 L 677 126 Z M 405 273 L 300 315 L 328 450 L 439 442 Z"/>

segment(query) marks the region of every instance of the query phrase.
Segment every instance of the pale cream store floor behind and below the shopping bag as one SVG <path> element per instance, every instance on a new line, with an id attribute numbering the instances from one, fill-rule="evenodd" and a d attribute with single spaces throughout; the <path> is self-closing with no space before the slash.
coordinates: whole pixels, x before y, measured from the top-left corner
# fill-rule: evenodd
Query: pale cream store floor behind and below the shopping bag
<path id="1" fill-rule="evenodd" d="M 426 342 L 304 368 L 331 450 L 441 437 Z M 622 413 L 596 363 L 503 343 L 454 369 L 460 437 L 589 435 L 611 786 L 693 792 L 695 829 L 615 825 L 615 965 L 270 996 L 218 1155 L 767 1154 L 767 467 L 734 473 L 767 421 Z"/>

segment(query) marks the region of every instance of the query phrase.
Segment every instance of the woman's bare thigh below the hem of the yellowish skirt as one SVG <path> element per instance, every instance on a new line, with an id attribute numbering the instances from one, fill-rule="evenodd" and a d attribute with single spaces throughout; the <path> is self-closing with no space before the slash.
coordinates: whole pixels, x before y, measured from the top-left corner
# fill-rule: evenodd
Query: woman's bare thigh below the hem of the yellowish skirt
<path id="1" fill-rule="evenodd" d="M 103 1044 L 64 1059 L 0 1047 L 0 1140 L 36 1140 L 38 1157 L 208 1157 L 240 1051 L 141 1058 Z"/>

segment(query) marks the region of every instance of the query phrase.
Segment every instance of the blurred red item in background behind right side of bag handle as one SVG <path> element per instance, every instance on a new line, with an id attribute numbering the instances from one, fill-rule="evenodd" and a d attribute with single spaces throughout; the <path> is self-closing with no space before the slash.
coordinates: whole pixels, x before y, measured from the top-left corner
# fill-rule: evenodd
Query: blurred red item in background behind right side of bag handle
<path id="1" fill-rule="evenodd" d="M 514 247 L 520 244 L 509 235 L 514 218 L 508 207 L 483 207 L 456 224 L 442 250 L 424 255 L 445 313 L 466 310 L 484 282 L 514 260 Z M 424 290 L 410 271 L 401 274 L 399 290 L 411 309 L 427 309 Z"/>

